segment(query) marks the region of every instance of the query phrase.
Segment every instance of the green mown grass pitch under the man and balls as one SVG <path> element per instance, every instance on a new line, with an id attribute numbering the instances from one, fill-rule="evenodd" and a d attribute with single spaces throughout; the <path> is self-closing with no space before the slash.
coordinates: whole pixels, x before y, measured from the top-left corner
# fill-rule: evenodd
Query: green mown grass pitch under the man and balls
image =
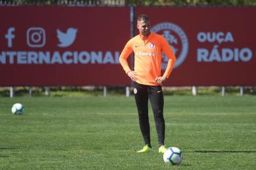
<path id="1" fill-rule="evenodd" d="M 21 116 L 11 106 L 25 106 Z M 144 142 L 134 98 L 0 98 L 0 169 L 256 169 L 255 96 L 165 96 L 166 147 L 180 166 Z"/>

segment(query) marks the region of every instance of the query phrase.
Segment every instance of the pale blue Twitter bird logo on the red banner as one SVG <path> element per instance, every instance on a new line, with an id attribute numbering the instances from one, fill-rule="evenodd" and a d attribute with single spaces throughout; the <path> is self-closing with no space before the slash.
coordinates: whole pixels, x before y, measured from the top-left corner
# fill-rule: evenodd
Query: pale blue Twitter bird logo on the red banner
<path id="1" fill-rule="evenodd" d="M 59 38 L 59 47 L 69 47 L 74 40 L 76 40 L 76 33 L 78 29 L 76 28 L 68 28 L 67 32 L 64 33 L 61 30 L 57 29 L 57 37 Z"/>

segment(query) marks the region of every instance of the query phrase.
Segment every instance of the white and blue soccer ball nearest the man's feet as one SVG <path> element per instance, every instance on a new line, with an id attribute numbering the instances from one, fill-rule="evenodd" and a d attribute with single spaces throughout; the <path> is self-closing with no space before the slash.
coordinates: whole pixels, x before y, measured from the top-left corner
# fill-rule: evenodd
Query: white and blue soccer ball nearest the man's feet
<path id="1" fill-rule="evenodd" d="M 163 161 L 168 165 L 179 165 L 182 163 L 183 154 L 177 147 L 169 147 L 163 153 Z"/>

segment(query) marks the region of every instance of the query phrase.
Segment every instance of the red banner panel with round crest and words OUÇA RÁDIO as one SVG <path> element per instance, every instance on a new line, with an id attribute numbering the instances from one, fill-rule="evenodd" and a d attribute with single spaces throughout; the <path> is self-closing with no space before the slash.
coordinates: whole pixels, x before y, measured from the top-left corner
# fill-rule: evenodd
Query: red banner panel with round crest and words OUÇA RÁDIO
<path id="1" fill-rule="evenodd" d="M 165 86 L 256 84 L 256 8 L 136 8 L 177 56 Z M 166 57 L 163 55 L 162 69 Z"/>

